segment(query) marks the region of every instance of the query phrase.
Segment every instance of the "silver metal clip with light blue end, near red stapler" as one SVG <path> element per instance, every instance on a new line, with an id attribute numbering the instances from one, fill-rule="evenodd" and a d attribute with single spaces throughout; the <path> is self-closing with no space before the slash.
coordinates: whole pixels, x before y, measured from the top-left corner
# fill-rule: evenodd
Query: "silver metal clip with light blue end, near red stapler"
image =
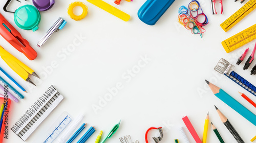
<path id="1" fill-rule="evenodd" d="M 41 47 L 48 39 L 49 37 L 54 33 L 61 30 L 65 25 L 67 21 L 63 20 L 61 17 L 54 23 L 54 25 L 47 31 L 44 37 L 37 43 L 38 47 Z"/>

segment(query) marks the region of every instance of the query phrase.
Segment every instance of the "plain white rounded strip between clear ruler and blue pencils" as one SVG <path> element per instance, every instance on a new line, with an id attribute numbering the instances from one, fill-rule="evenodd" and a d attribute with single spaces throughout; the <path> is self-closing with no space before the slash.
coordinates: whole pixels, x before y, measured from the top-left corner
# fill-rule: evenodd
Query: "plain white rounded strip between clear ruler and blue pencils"
<path id="1" fill-rule="evenodd" d="M 69 127 L 66 129 L 65 132 L 63 132 L 61 134 L 60 137 L 58 137 L 58 139 L 56 140 L 56 142 L 62 143 L 62 142 L 66 142 L 68 140 L 68 137 L 71 135 L 71 133 L 75 130 L 75 128 L 80 124 L 80 122 L 82 121 L 84 115 L 83 114 L 79 114 L 75 120 L 73 120 L 71 122 L 71 124 L 69 125 Z"/>

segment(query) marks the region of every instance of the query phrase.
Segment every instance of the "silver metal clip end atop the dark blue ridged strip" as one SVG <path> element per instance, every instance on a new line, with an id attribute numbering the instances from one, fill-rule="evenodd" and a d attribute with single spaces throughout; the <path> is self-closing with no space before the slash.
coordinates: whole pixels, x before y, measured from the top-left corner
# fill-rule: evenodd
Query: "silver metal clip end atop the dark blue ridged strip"
<path id="1" fill-rule="evenodd" d="M 214 68 L 220 74 L 230 74 L 234 70 L 234 66 L 225 59 L 221 59 Z"/>

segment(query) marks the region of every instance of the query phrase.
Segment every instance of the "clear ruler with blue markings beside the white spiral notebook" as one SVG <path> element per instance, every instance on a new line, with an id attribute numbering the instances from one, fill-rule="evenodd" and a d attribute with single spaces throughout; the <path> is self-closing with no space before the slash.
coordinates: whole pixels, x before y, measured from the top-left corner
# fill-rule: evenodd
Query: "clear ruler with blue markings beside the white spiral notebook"
<path id="1" fill-rule="evenodd" d="M 63 112 L 53 125 L 48 129 L 46 137 L 41 142 L 51 143 L 53 142 L 58 135 L 69 125 L 72 121 L 72 117 L 68 112 Z M 36 139 L 37 141 L 38 139 Z M 36 142 L 34 141 L 34 142 Z"/>

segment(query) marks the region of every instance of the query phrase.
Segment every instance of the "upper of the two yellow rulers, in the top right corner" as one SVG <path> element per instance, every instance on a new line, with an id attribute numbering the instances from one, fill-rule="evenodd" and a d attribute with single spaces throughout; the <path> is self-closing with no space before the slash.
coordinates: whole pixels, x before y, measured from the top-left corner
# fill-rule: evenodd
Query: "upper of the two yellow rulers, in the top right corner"
<path id="1" fill-rule="evenodd" d="M 242 8 L 240 8 L 237 12 L 227 18 L 223 23 L 221 23 L 221 28 L 227 32 L 234 25 L 236 25 L 239 21 L 241 21 L 246 15 L 248 15 L 251 11 L 256 8 L 256 0 L 250 0 L 247 2 Z"/>

